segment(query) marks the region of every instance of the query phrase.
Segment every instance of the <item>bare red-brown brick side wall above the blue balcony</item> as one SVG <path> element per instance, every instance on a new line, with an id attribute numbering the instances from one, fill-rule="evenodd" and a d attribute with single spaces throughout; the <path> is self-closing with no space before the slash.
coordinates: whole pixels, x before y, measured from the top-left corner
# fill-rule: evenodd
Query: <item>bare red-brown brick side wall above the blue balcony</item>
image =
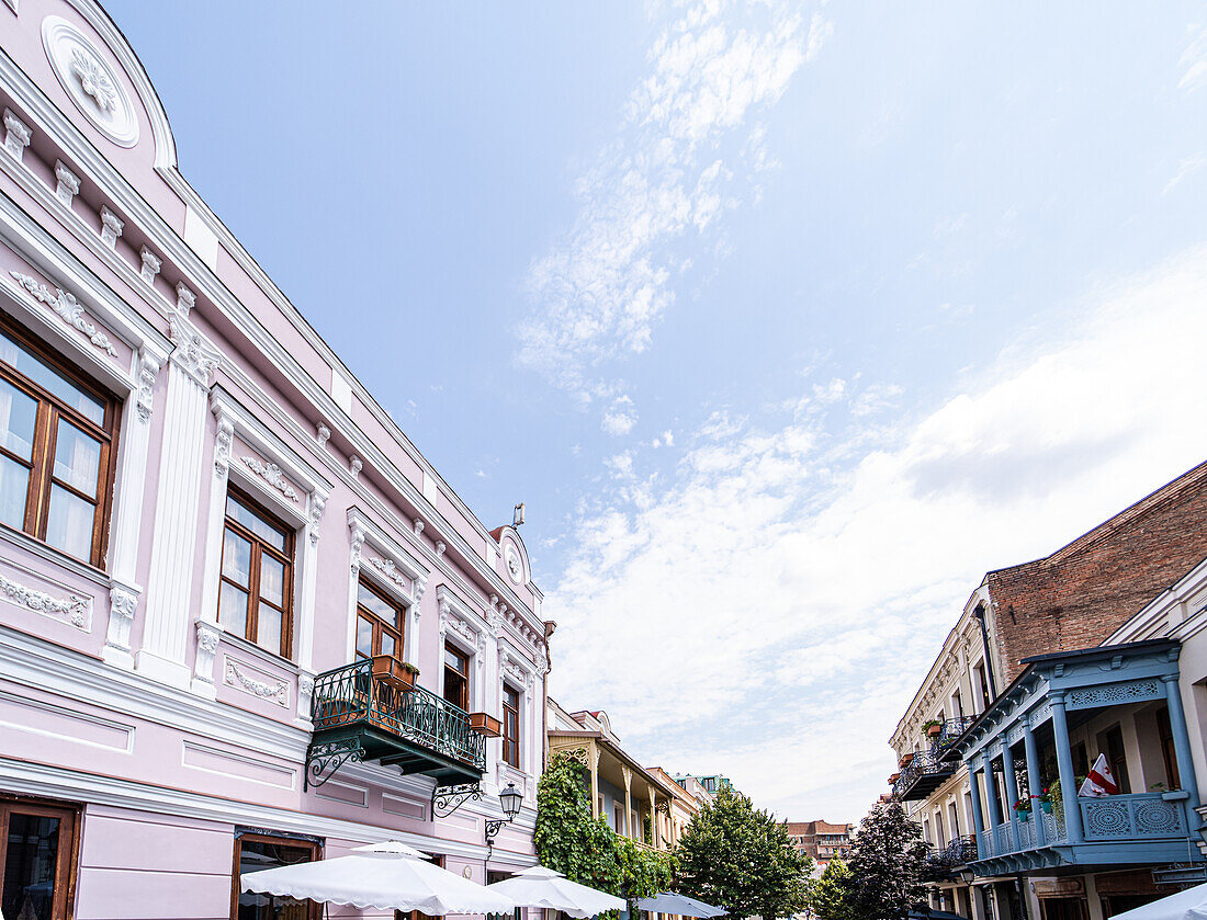
<path id="1" fill-rule="evenodd" d="M 1045 559 L 991 572 L 1001 692 L 1021 658 L 1100 645 L 1207 558 L 1207 463 Z"/>

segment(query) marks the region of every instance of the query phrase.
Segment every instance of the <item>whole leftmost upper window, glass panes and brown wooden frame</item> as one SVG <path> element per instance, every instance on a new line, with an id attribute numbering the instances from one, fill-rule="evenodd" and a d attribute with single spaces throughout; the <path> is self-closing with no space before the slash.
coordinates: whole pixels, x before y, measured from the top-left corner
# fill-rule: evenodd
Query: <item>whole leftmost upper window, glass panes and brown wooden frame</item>
<path id="1" fill-rule="evenodd" d="M 0 522 L 101 567 L 118 403 L 0 327 Z"/>

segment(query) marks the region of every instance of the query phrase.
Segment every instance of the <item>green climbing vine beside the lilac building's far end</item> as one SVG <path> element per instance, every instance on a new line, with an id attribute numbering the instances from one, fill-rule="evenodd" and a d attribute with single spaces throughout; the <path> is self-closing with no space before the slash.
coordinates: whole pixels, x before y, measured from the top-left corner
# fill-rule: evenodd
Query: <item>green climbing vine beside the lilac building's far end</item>
<path id="1" fill-rule="evenodd" d="M 585 778 L 585 767 L 564 754 L 554 755 L 541 775 L 533 836 L 541 865 L 628 901 L 667 890 L 674 859 L 637 846 L 593 818 Z"/>

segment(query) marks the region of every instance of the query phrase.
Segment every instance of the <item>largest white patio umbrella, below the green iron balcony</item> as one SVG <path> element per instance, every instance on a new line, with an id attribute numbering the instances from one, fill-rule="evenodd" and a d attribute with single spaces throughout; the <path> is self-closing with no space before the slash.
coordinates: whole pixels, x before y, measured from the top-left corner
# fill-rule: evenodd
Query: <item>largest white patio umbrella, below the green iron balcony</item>
<path id="1" fill-rule="evenodd" d="M 505 914 L 517 907 L 506 895 L 445 872 L 397 840 L 357 846 L 350 856 L 333 860 L 249 872 L 239 885 L 261 895 L 432 916 Z"/>

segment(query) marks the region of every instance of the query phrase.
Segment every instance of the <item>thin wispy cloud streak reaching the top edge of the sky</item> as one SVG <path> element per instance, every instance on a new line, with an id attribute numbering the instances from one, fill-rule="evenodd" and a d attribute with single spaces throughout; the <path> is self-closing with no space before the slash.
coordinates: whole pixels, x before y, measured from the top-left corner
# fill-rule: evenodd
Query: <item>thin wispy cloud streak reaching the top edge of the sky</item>
<path id="1" fill-rule="evenodd" d="M 759 118 L 830 31 L 779 0 L 674 7 L 616 141 L 578 178 L 573 227 L 529 271 L 521 364 L 584 404 L 614 397 L 604 365 L 649 347 L 688 270 L 675 242 L 756 194 Z"/>

